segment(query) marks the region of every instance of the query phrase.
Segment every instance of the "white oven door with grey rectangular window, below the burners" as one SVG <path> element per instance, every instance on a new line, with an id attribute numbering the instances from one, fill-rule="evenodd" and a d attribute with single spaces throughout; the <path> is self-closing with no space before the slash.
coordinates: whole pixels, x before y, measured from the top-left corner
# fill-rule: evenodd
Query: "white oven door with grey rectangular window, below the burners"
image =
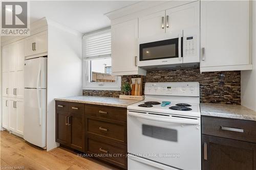
<path id="1" fill-rule="evenodd" d="M 200 118 L 128 110 L 127 151 L 173 168 L 201 169 L 200 125 Z"/>

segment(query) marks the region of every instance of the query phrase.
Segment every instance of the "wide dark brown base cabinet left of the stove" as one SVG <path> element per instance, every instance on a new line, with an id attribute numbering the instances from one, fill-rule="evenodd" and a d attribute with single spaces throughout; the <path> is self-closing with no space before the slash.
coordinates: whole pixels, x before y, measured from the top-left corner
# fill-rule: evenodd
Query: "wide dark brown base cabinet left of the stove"
<path id="1" fill-rule="evenodd" d="M 127 169 L 126 108 L 55 102 L 56 141 Z"/>

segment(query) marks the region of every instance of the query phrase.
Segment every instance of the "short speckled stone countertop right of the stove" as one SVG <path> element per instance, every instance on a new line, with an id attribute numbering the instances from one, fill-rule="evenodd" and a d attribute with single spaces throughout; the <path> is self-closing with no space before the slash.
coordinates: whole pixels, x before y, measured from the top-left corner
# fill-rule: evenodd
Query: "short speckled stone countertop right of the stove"
<path id="1" fill-rule="evenodd" d="M 241 105 L 201 103 L 201 115 L 256 121 L 256 111 Z"/>

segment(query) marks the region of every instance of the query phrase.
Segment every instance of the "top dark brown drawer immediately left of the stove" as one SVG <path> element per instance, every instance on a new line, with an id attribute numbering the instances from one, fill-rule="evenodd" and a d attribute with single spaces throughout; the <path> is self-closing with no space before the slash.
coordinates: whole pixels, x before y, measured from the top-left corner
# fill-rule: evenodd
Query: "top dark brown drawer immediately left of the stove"
<path id="1" fill-rule="evenodd" d="M 126 122 L 127 109 L 119 107 L 99 106 L 99 105 L 86 105 L 86 115 L 108 118 Z"/>

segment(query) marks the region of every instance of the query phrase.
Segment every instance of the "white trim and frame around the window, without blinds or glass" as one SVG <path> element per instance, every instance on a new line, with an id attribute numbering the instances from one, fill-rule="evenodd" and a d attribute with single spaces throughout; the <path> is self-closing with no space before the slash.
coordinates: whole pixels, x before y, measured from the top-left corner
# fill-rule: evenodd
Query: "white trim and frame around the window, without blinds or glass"
<path id="1" fill-rule="evenodd" d="M 83 90 L 112 90 L 112 91 L 120 91 L 121 90 L 121 77 L 116 76 L 116 82 L 89 82 L 89 74 L 90 74 L 90 66 L 89 61 L 93 60 L 91 58 L 86 58 L 86 37 L 99 35 L 105 32 L 110 31 L 110 28 L 103 29 L 98 32 L 94 32 L 89 35 L 84 35 L 82 37 L 82 89 Z M 110 56 L 99 56 L 100 58 L 111 58 Z"/>

